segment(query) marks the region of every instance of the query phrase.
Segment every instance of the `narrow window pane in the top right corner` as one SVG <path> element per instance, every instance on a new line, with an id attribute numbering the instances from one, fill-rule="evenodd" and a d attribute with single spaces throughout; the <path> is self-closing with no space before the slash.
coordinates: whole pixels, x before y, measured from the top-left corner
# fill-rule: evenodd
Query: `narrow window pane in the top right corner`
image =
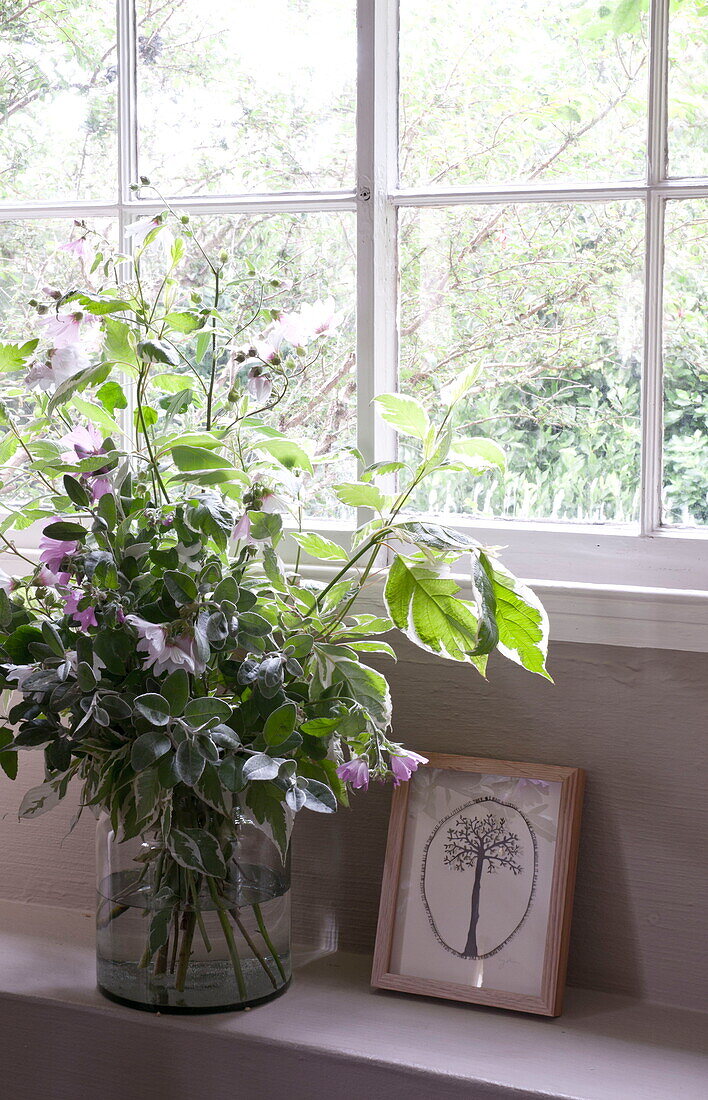
<path id="1" fill-rule="evenodd" d="M 708 4 L 672 0 L 668 31 L 672 176 L 708 175 Z"/>

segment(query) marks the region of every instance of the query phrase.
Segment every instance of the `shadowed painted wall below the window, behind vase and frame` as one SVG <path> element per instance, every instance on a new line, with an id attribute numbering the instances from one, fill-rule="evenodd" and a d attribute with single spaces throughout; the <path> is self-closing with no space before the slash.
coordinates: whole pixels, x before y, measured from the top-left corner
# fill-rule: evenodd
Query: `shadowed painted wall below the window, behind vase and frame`
<path id="1" fill-rule="evenodd" d="M 411 748 L 587 770 L 569 980 L 705 1008 L 708 657 L 558 644 L 551 685 L 501 659 L 485 683 L 400 651 L 386 671 Z M 21 785 L 0 777 L 0 898 L 90 909 L 90 817 L 68 837 L 74 805 L 16 821 L 23 790 L 42 778 L 38 756 L 32 766 L 25 756 Z M 389 800 L 375 789 L 350 812 L 300 815 L 301 942 L 370 950 Z"/>

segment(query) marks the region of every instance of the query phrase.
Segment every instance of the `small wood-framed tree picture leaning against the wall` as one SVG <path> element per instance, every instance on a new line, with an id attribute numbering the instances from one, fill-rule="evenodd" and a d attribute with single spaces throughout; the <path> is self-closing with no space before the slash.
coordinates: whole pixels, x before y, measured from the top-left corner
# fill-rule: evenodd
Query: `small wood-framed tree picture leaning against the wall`
<path id="1" fill-rule="evenodd" d="M 394 792 L 372 985 L 560 1015 L 584 773 L 429 759 Z"/>

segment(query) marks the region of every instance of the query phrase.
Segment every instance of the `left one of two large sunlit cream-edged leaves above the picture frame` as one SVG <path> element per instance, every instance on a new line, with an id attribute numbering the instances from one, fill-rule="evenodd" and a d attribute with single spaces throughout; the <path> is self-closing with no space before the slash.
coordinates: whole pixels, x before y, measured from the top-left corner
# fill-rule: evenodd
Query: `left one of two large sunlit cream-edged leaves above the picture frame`
<path id="1" fill-rule="evenodd" d="M 458 592 L 452 578 L 397 557 L 384 601 L 396 626 L 420 649 L 477 664 L 477 616 L 472 604 L 457 597 Z"/>

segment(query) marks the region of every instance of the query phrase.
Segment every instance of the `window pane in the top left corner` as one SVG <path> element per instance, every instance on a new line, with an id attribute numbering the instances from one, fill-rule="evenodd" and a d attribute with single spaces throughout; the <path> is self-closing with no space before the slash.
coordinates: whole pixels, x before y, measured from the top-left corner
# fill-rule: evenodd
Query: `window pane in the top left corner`
<path id="1" fill-rule="evenodd" d="M 115 3 L 0 6 L 0 199 L 115 195 Z"/>

